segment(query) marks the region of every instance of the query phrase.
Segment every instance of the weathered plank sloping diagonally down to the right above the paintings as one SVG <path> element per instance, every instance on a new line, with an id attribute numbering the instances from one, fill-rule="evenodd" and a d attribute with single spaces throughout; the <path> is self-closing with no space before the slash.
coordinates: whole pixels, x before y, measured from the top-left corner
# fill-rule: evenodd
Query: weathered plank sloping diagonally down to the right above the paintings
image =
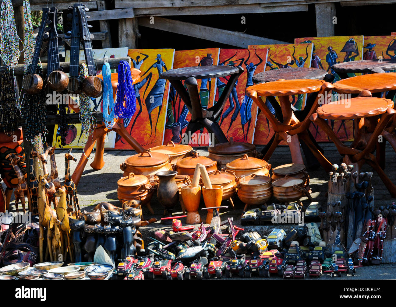
<path id="1" fill-rule="evenodd" d="M 247 48 L 248 45 L 287 44 L 286 42 L 272 40 L 270 38 L 194 25 L 192 23 L 185 23 L 162 17 L 154 17 L 154 23 L 150 23 L 150 17 L 139 17 L 139 25 L 242 48 Z"/>

